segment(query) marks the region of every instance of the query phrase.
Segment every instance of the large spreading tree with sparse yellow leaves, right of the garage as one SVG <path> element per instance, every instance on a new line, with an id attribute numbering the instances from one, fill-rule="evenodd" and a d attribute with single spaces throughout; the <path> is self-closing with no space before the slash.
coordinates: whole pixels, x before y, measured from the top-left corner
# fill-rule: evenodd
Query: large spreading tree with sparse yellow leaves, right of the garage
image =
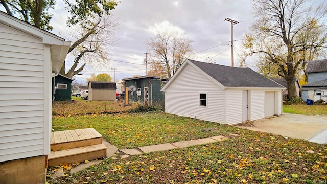
<path id="1" fill-rule="evenodd" d="M 253 1 L 256 17 L 251 34 L 244 36 L 245 58 L 257 54 L 260 72 L 286 79 L 289 97 L 295 97 L 295 76 L 326 48 L 322 18 L 326 5 L 308 6 L 306 0 Z M 244 63 L 241 63 L 241 65 Z"/>

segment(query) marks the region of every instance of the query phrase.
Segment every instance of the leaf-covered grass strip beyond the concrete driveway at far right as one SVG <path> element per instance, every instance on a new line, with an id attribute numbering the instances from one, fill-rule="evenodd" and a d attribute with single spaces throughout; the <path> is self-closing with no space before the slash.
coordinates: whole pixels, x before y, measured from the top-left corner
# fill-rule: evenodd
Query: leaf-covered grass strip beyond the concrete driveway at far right
<path id="1" fill-rule="evenodd" d="M 284 113 L 327 116 L 327 105 L 293 104 L 283 105 Z"/>

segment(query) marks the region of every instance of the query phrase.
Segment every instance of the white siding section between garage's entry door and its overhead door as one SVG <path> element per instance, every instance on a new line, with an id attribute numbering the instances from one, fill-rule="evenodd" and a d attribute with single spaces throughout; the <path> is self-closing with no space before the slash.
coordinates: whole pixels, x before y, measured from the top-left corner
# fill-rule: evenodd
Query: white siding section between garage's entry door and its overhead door
<path id="1" fill-rule="evenodd" d="M 265 118 L 265 91 L 251 90 L 250 99 L 250 120 Z"/>

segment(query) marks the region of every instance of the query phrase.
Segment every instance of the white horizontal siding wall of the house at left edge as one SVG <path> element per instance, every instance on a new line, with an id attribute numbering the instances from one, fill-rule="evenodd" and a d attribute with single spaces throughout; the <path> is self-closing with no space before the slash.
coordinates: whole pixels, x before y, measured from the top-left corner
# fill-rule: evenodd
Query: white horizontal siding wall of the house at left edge
<path id="1" fill-rule="evenodd" d="M 0 162 L 44 155 L 44 145 L 49 144 L 44 138 L 49 116 L 45 85 L 50 83 L 45 81 L 50 75 L 45 46 L 36 37 L 0 24 L 0 56 Z"/>

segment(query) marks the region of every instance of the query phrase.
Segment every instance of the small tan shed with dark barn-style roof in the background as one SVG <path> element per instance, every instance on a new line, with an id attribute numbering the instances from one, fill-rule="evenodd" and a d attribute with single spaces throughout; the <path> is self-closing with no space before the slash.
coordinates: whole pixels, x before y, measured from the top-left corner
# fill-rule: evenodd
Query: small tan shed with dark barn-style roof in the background
<path id="1" fill-rule="evenodd" d="M 116 100 L 115 82 L 88 82 L 88 100 L 94 101 L 115 101 Z"/>

